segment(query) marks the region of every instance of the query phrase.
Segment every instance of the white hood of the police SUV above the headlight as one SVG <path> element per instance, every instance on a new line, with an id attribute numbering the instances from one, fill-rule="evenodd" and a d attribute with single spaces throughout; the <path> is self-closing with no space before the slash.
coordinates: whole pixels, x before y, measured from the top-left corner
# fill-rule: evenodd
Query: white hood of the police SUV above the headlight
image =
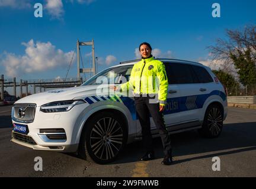
<path id="1" fill-rule="evenodd" d="M 100 87 L 100 88 L 99 88 Z M 56 102 L 61 100 L 73 100 L 84 99 L 86 96 L 95 95 L 97 90 L 104 89 L 107 94 L 108 85 L 94 85 L 94 86 L 79 86 L 65 89 L 49 90 L 43 93 L 32 94 L 27 97 L 23 97 L 16 103 L 36 103 L 37 106 L 44 105 L 50 102 Z M 104 93 L 100 93 L 103 95 Z"/>

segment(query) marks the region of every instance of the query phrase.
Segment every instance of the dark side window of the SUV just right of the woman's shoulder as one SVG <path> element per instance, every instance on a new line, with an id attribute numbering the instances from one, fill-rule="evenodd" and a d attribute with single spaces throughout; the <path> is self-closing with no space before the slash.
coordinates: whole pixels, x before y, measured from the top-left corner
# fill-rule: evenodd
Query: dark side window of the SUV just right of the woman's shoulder
<path id="1" fill-rule="evenodd" d="M 189 64 L 165 63 L 169 84 L 195 83 Z"/>

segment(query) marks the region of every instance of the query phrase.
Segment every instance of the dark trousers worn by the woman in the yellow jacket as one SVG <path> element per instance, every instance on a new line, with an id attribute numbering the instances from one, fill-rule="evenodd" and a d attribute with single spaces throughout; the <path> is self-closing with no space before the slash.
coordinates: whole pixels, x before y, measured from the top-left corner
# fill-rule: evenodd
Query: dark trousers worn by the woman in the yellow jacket
<path id="1" fill-rule="evenodd" d="M 153 97 L 154 98 L 154 97 Z M 137 116 L 139 116 L 140 125 L 142 127 L 142 142 L 143 146 L 147 151 L 153 151 L 152 146 L 152 135 L 151 135 L 151 123 L 150 115 L 152 116 L 153 122 L 159 131 L 162 139 L 162 145 L 164 147 L 164 154 L 170 155 L 171 153 L 171 138 L 165 127 L 164 115 L 159 112 L 159 103 L 149 103 L 152 97 L 142 96 L 135 97 L 135 107 Z"/>

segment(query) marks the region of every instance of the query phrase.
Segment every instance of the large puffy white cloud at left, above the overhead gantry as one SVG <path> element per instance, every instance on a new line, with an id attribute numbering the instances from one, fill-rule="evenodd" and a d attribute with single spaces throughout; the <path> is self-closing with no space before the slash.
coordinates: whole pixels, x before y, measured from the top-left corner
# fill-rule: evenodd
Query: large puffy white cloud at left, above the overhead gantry
<path id="1" fill-rule="evenodd" d="M 5 67 L 8 76 L 15 77 L 25 73 L 68 66 L 73 54 L 73 51 L 64 53 L 62 50 L 56 49 L 50 42 L 37 42 L 35 44 L 33 40 L 30 40 L 28 43 L 22 44 L 26 47 L 23 56 L 4 53 L 5 58 L 3 58 L 1 64 Z"/>

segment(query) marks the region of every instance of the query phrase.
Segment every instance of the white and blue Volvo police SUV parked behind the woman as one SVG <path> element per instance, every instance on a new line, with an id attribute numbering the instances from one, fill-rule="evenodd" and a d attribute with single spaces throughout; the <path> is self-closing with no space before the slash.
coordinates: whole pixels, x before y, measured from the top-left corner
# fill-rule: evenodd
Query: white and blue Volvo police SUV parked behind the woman
<path id="1" fill-rule="evenodd" d="M 168 75 L 164 118 L 170 133 L 198 129 L 220 135 L 227 116 L 225 89 L 209 67 L 192 61 L 158 59 Z M 123 146 L 141 139 L 133 95 L 110 91 L 137 60 L 120 63 L 91 77 L 79 87 L 50 90 L 15 102 L 12 142 L 45 151 L 78 152 L 104 164 L 114 161 Z M 158 136 L 151 120 L 152 135 Z"/>

